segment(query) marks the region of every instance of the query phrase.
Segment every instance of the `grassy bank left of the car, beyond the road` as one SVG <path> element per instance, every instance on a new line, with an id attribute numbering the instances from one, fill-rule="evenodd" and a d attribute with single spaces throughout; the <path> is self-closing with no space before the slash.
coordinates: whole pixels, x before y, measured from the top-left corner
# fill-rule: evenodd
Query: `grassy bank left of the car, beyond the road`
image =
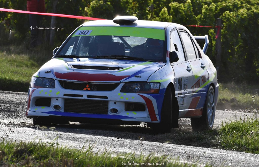
<path id="1" fill-rule="evenodd" d="M 43 46 L 33 50 L 23 44 L 0 48 L 0 90 L 27 92 L 32 75 L 52 57 Z"/>

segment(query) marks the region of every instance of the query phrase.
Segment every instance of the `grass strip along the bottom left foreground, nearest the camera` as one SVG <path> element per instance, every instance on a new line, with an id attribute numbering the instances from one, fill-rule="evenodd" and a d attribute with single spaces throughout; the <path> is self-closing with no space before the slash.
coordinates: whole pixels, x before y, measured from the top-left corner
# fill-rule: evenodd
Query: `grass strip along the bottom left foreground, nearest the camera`
<path id="1" fill-rule="evenodd" d="M 111 156 L 106 150 L 103 153 L 93 153 L 92 147 L 69 149 L 57 143 L 43 142 L 0 142 L 0 166 L 136 166 L 122 165 L 122 162 L 144 162 L 155 166 L 197 166 L 197 164 L 168 161 L 166 156 L 120 154 Z M 148 165 L 154 163 L 154 165 Z"/>

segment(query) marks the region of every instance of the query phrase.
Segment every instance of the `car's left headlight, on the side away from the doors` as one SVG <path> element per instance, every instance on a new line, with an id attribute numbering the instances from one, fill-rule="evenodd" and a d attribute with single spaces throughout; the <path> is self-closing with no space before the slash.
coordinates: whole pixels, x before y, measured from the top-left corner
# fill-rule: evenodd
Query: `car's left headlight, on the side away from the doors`
<path id="1" fill-rule="evenodd" d="M 30 88 L 55 88 L 55 80 L 50 78 L 32 77 Z"/>

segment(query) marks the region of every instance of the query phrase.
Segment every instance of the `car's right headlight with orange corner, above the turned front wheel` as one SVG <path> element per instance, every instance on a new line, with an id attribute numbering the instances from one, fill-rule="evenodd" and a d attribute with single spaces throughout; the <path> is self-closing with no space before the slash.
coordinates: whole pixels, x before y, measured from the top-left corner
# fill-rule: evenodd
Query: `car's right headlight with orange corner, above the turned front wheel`
<path id="1" fill-rule="evenodd" d="M 120 92 L 124 93 L 159 93 L 160 83 L 157 82 L 130 82 L 125 83 Z"/>

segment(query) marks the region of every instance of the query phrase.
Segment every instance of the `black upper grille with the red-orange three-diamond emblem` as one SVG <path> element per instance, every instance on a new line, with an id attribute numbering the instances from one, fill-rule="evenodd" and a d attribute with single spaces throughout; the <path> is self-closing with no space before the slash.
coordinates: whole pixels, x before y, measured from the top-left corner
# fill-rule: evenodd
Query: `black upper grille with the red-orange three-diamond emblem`
<path id="1" fill-rule="evenodd" d="M 61 87 L 65 89 L 86 90 L 86 91 L 111 91 L 119 86 L 119 83 L 95 84 L 95 83 L 68 82 L 68 81 L 61 81 L 61 80 L 59 80 L 59 83 Z"/>

